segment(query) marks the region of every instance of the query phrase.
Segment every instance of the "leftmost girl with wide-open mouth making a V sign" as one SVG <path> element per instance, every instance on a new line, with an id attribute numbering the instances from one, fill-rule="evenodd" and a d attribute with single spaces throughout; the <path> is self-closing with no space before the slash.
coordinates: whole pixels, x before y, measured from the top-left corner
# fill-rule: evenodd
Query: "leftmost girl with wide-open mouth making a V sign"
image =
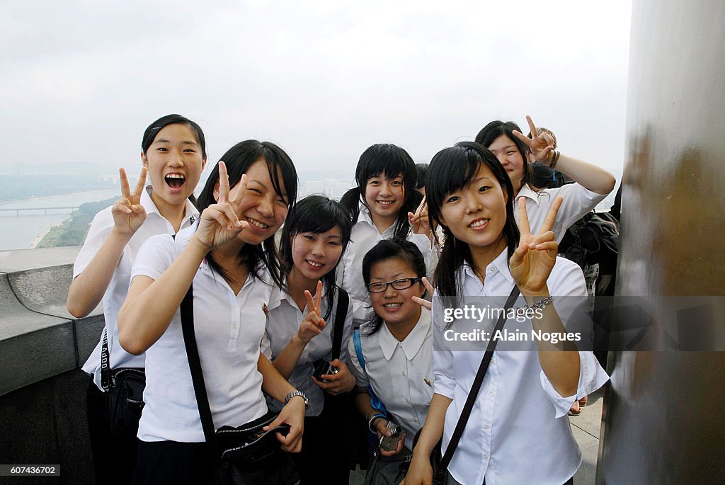
<path id="1" fill-rule="evenodd" d="M 83 318 L 103 302 L 104 332 L 83 370 L 91 374 L 88 387 L 88 431 L 91 435 L 96 483 L 128 483 L 136 462 L 138 439 L 113 433 L 109 426 L 109 382 L 101 381 L 104 339 L 112 370 L 144 368 L 144 355 L 131 355 L 118 344 L 116 320 L 130 283 L 131 268 L 141 245 L 156 234 L 175 234 L 199 215 L 193 191 L 207 162 L 204 132 L 181 115 L 154 121 L 141 140 L 141 175 L 133 192 L 119 169 L 121 198 L 101 210 L 80 248 L 68 289 L 68 312 Z M 150 183 L 146 186 L 146 174 Z"/>

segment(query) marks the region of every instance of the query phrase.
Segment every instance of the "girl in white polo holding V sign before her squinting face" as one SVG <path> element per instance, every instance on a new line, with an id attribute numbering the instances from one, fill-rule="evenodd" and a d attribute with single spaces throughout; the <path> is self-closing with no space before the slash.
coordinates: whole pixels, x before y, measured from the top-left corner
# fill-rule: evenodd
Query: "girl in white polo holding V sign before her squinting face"
<path id="1" fill-rule="evenodd" d="M 277 435 L 283 448 L 301 445 L 307 399 L 297 398 L 260 353 L 272 284 L 281 284 L 274 235 L 297 195 L 297 173 L 289 156 L 268 142 L 242 141 L 223 159 L 199 196 L 198 225 L 175 239 L 154 236 L 141 248 L 119 314 L 121 345 L 132 354 L 146 352 L 134 483 L 212 480 L 181 333 L 179 305 L 192 282 L 214 428 L 268 413 L 263 390 L 287 402 L 270 424 L 291 426 L 287 436 Z"/>

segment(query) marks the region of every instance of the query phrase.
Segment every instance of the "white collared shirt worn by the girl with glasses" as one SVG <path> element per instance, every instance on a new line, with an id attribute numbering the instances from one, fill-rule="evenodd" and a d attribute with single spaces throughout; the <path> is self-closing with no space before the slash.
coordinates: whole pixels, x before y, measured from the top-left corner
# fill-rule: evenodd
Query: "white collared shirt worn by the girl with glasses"
<path id="1" fill-rule="evenodd" d="M 413 436 L 426 423 L 433 397 L 431 312 L 425 308 L 413 330 L 398 341 L 385 323 L 372 335 L 361 328 L 360 344 L 365 369 L 350 339 L 348 350 L 350 370 L 357 386 L 372 386 L 383 402 L 392 421 L 405 430 L 405 447 L 413 449 Z"/>

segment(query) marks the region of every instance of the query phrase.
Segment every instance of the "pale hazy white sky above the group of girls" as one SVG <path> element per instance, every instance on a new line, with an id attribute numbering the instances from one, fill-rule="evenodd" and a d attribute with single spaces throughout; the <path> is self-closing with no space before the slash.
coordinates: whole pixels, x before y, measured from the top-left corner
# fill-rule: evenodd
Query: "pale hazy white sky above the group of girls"
<path id="1" fill-rule="evenodd" d="M 516 7 L 513 7 L 515 5 Z M 16 1 L 0 4 L 0 171 L 139 167 L 170 112 L 352 178 L 373 143 L 415 161 L 525 115 L 619 172 L 630 1 Z M 523 128 L 523 126 L 522 126 Z M 53 167 L 49 167 L 52 172 Z"/>

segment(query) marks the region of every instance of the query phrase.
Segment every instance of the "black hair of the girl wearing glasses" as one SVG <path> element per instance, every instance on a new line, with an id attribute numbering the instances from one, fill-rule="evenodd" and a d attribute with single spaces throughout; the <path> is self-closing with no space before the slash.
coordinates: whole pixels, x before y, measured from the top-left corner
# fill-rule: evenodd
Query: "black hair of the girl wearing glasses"
<path id="1" fill-rule="evenodd" d="M 373 246 L 373 249 L 365 253 L 365 257 L 363 257 L 363 281 L 365 281 L 365 286 L 370 284 L 370 272 L 373 270 L 374 265 L 395 258 L 405 261 L 418 278 L 423 278 L 426 275 L 426 259 L 415 243 L 400 238 L 383 239 Z M 362 327 L 364 328 L 361 327 L 360 333 L 372 335 L 380 330 L 382 324 L 383 319 L 380 315 L 372 311 L 368 320 L 363 323 Z"/>

